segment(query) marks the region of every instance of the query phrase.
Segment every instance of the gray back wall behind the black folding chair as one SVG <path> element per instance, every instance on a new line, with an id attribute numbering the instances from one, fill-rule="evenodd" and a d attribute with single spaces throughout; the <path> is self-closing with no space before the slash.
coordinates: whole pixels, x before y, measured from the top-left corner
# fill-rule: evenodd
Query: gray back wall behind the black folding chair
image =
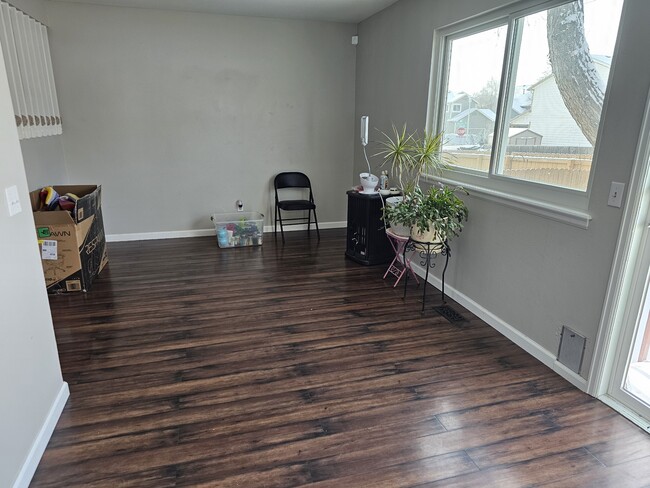
<path id="1" fill-rule="evenodd" d="M 103 185 L 107 234 L 210 228 L 303 170 L 345 220 L 355 26 L 48 2 L 69 181 Z"/>

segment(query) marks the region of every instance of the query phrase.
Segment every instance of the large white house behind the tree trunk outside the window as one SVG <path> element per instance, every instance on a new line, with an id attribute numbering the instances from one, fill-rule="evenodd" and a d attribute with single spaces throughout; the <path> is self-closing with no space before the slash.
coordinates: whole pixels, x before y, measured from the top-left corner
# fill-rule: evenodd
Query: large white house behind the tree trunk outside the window
<path id="1" fill-rule="evenodd" d="M 611 58 L 592 56 L 598 74 L 603 80 L 609 78 Z M 530 109 L 513 117 L 511 127 L 527 128 L 544 139 L 544 146 L 591 147 L 591 144 L 566 108 L 553 75 L 548 75 L 530 86 L 532 101 Z"/>

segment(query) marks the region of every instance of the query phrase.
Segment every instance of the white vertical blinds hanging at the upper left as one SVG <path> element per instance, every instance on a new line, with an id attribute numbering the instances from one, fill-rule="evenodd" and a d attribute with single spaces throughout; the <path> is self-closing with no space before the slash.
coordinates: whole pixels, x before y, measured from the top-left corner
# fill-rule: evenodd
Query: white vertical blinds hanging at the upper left
<path id="1" fill-rule="evenodd" d="M 0 45 L 20 138 L 61 134 L 47 27 L 0 0 Z"/>

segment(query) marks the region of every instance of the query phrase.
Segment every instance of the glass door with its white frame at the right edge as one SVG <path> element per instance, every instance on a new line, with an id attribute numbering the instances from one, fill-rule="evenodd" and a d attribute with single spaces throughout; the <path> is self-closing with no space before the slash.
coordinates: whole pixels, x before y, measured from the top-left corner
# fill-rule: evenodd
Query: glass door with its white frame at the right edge
<path id="1" fill-rule="evenodd" d="M 588 392 L 650 432 L 650 94 Z"/>

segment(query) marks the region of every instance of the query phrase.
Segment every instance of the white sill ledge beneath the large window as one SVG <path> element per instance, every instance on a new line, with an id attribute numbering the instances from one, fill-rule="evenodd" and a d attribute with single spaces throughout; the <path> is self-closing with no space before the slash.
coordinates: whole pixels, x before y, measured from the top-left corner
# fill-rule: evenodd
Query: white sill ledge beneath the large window
<path id="1" fill-rule="evenodd" d="M 505 205 L 506 207 L 516 208 L 539 217 L 555 220 L 556 222 L 562 222 L 581 229 L 588 229 L 589 222 L 591 222 L 591 215 L 580 210 L 552 205 L 532 198 L 510 195 L 499 190 L 467 184 L 450 178 L 427 177 L 426 179 L 429 182 L 439 181 L 449 186 L 461 186 L 476 198 L 489 200 L 500 205 Z"/>

